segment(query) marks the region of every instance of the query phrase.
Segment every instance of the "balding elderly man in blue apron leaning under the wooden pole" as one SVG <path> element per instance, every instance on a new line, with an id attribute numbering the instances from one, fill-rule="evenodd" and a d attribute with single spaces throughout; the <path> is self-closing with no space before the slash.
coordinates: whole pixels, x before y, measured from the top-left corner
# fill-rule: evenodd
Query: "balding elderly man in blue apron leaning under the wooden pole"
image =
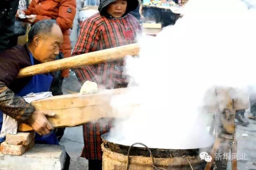
<path id="1" fill-rule="evenodd" d="M 48 91 L 52 82 L 49 74 L 34 75 L 16 79 L 19 70 L 31 65 L 55 60 L 63 41 L 62 32 L 52 20 L 36 23 L 29 31 L 28 43 L 12 47 L 0 54 L 0 129 L 3 113 L 21 122 L 27 122 L 38 133 L 35 139 L 39 143 L 58 144 L 54 128 L 46 116 L 47 111 L 38 111 L 21 96 L 31 92 Z"/>

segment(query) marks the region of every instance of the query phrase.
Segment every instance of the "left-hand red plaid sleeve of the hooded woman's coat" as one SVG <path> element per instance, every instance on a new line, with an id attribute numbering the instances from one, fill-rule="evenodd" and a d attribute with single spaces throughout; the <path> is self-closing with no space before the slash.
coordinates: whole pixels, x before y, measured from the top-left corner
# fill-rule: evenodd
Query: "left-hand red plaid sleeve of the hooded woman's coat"
<path id="1" fill-rule="evenodd" d="M 80 35 L 77 39 L 72 56 L 97 51 L 99 37 L 99 29 L 97 24 L 93 21 L 93 18 L 85 20 L 81 25 Z M 96 75 L 96 65 L 75 68 L 74 71 L 76 77 L 82 84 L 87 80 L 96 82 L 97 84 L 100 83 Z"/>

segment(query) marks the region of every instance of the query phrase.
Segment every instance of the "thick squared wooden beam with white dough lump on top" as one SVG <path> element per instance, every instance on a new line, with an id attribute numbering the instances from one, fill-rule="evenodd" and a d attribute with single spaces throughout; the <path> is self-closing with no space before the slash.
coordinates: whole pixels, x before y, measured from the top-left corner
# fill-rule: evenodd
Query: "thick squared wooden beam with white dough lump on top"
<path id="1" fill-rule="evenodd" d="M 35 109 L 55 112 L 56 115 L 54 117 L 47 118 L 55 128 L 72 127 L 90 121 L 97 121 L 100 118 L 120 117 L 121 115 L 111 107 L 111 98 L 133 89 L 119 88 L 103 90 L 97 94 L 53 96 L 33 101 L 31 104 Z M 127 114 L 131 113 L 135 106 L 135 103 L 128 106 Z M 125 115 L 123 114 L 122 116 Z M 24 132 L 28 130 L 32 130 L 32 128 L 28 128 L 24 124 L 19 125 L 18 131 Z"/>

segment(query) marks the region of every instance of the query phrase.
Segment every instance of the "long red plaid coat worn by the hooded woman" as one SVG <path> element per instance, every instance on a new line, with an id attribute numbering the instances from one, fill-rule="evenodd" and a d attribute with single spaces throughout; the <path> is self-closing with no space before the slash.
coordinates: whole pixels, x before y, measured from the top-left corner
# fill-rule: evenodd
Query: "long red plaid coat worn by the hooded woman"
<path id="1" fill-rule="evenodd" d="M 73 55 L 99 51 L 136 42 L 141 32 L 138 20 L 130 14 L 122 18 L 109 18 L 99 13 L 87 18 L 81 25 Z M 116 60 L 75 68 L 76 77 L 81 83 L 94 81 L 106 88 L 127 87 L 123 76 L 124 61 Z M 104 122 L 107 122 L 104 120 Z M 102 125 L 89 122 L 83 125 L 84 149 L 81 156 L 86 159 L 102 159 L 100 136 L 110 129 L 111 120 Z"/>

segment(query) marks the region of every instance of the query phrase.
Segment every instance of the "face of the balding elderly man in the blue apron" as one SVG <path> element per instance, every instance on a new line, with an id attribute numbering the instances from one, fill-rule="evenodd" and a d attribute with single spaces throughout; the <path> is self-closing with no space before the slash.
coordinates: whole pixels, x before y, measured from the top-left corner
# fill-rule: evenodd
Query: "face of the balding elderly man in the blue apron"
<path id="1" fill-rule="evenodd" d="M 54 24 L 49 35 L 41 35 L 38 38 L 34 57 L 41 63 L 54 61 L 59 54 L 63 42 L 62 32 L 57 24 Z"/>

